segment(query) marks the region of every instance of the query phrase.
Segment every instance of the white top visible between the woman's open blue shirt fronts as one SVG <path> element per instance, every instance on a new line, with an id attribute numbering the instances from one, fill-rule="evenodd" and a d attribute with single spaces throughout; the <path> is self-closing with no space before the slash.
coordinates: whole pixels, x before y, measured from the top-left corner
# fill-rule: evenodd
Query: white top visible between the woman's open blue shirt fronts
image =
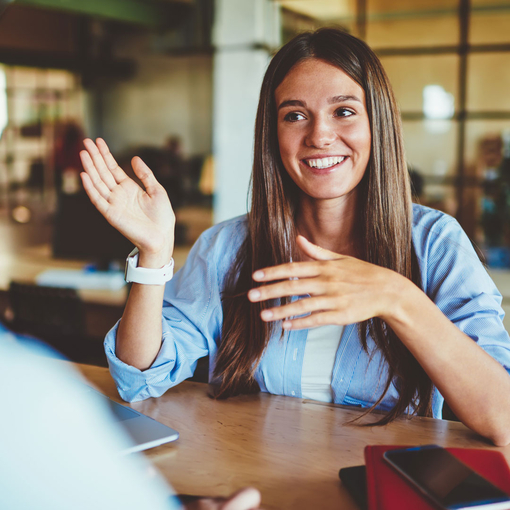
<path id="1" fill-rule="evenodd" d="M 332 325 L 308 331 L 301 372 L 303 398 L 333 402 L 331 377 L 343 330 L 343 326 Z"/>

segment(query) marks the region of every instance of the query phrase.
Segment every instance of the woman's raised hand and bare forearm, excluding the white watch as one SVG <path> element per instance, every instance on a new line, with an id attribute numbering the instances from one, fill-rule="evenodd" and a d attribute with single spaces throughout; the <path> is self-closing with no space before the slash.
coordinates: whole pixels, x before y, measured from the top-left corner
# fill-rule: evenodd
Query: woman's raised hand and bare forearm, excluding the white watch
<path id="1" fill-rule="evenodd" d="M 138 264 L 161 268 L 173 252 L 175 214 L 166 190 L 138 157 L 132 166 L 143 187 L 117 164 L 106 142 L 83 141 L 81 174 L 97 210 L 139 249 Z M 149 368 L 161 348 L 164 285 L 133 284 L 116 340 L 117 357 L 141 370 Z"/>

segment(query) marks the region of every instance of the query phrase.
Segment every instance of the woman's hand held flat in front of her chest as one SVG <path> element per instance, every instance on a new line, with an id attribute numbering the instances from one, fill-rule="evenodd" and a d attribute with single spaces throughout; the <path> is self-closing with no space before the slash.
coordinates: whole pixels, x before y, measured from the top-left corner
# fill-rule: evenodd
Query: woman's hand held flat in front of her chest
<path id="1" fill-rule="evenodd" d="M 411 283 L 394 271 L 325 250 L 303 236 L 298 236 L 297 243 L 312 261 L 255 271 L 253 279 L 266 285 L 248 292 L 252 302 L 309 295 L 261 312 L 266 322 L 283 320 L 284 329 L 346 325 L 372 317 L 387 320 Z"/>

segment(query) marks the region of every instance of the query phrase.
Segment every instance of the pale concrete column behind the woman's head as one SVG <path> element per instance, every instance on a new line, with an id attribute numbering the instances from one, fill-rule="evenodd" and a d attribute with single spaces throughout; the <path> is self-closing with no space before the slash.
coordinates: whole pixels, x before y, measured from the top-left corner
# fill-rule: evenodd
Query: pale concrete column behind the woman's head
<path id="1" fill-rule="evenodd" d="M 216 0 L 213 44 L 214 222 L 245 214 L 260 85 L 280 45 L 273 0 Z"/>

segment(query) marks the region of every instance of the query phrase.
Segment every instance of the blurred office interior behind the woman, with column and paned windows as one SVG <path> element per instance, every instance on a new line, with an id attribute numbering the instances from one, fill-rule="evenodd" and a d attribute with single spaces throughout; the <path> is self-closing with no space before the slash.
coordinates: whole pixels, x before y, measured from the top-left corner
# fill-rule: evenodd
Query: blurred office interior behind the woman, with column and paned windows
<path id="1" fill-rule="evenodd" d="M 213 222 L 246 212 L 267 63 L 293 35 L 333 25 L 364 39 L 390 76 L 417 199 L 457 217 L 510 296 L 509 0 L 12 0 L 0 9 L 4 287 L 24 256 L 104 268 L 127 254 L 88 216 L 83 136 L 104 137 L 127 171 L 135 154 L 148 162 L 177 210 L 184 251 Z M 0 297 L 7 321 L 11 305 Z"/>

